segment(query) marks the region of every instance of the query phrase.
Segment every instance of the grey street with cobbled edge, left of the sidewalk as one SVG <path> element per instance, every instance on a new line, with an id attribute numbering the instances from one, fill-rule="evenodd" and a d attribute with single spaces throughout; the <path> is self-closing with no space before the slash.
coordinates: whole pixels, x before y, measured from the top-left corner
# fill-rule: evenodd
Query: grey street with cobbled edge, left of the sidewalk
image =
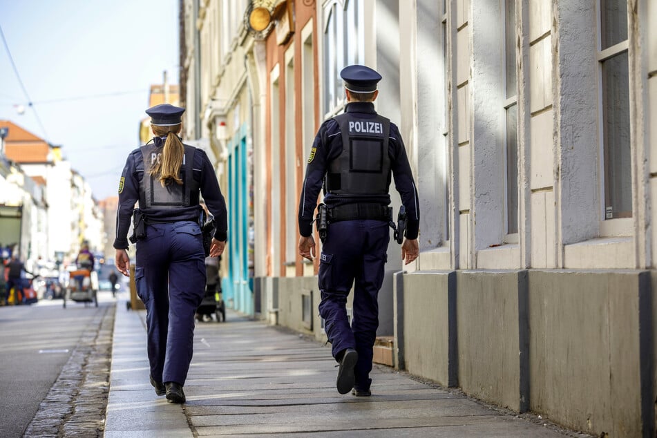
<path id="1" fill-rule="evenodd" d="M 75 426 L 70 423 L 73 396 L 78 396 L 76 404 L 79 395 L 85 397 L 79 394 L 88 377 L 83 368 L 91 362 L 103 322 L 114 313 L 110 292 L 99 292 L 98 301 L 98 307 L 68 303 L 66 309 L 61 300 L 0 307 L 0 437 L 22 437 L 28 426 L 34 433 L 26 436 L 61 435 L 65 420 L 67 427 Z M 111 344 L 104 348 L 108 368 Z M 106 373 L 96 374 L 106 381 Z M 101 419 L 105 403 L 99 400 Z"/>

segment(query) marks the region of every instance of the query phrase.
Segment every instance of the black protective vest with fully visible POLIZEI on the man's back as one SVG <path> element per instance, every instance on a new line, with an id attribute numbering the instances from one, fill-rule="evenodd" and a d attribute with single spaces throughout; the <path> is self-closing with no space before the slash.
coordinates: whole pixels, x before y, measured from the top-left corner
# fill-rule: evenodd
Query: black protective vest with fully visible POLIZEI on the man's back
<path id="1" fill-rule="evenodd" d="M 381 115 L 333 117 L 342 133 L 342 153 L 329 163 L 326 190 L 336 195 L 385 195 L 390 187 L 390 120 Z"/>

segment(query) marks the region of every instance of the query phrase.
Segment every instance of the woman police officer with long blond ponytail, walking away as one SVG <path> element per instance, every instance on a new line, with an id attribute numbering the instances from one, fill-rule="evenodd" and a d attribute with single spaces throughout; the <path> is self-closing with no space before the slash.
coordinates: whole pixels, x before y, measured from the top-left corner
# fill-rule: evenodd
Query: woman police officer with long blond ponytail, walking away
<path id="1" fill-rule="evenodd" d="M 151 385 L 170 403 L 184 403 L 182 390 L 192 356 L 194 314 L 205 291 L 205 254 L 199 192 L 216 220 L 210 255 L 227 238 L 226 204 L 204 151 L 178 137 L 184 108 L 169 104 L 146 110 L 155 137 L 128 155 L 119 182 L 116 267 L 128 276 L 128 228 L 133 207 L 137 243 L 135 283 L 146 305 Z"/>

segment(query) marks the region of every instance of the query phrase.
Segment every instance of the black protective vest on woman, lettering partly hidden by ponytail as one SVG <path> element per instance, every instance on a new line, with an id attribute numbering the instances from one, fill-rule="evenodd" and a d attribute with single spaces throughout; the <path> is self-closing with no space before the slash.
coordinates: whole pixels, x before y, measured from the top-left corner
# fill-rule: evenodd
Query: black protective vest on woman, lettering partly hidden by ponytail
<path id="1" fill-rule="evenodd" d="M 194 150 L 192 146 L 184 145 L 179 174 L 182 184 L 173 182 L 162 187 L 160 180 L 149 172 L 162 149 L 153 143 L 142 146 L 144 173 L 139 190 L 140 209 L 177 209 L 198 204 L 198 182 L 192 175 Z"/>

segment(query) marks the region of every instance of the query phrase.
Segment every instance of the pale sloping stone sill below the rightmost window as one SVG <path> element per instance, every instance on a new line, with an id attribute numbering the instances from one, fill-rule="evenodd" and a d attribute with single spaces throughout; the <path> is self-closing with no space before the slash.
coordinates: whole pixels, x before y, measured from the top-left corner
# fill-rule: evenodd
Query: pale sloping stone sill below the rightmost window
<path id="1" fill-rule="evenodd" d="M 564 269 L 634 269 L 634 238 L 596 238 L 564 245 Z"/>

